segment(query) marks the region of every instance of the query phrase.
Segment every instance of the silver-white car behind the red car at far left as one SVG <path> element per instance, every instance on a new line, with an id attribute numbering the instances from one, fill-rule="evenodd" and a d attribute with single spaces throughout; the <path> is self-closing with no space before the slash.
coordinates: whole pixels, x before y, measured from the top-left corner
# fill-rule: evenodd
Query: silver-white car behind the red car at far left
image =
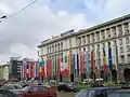
<path id="1" fill-rule="evenodd" d="M 14 92 L 14 91 L 21 91 L 22 86 L 20 84 L 4 84 L 1 88 Z"/>

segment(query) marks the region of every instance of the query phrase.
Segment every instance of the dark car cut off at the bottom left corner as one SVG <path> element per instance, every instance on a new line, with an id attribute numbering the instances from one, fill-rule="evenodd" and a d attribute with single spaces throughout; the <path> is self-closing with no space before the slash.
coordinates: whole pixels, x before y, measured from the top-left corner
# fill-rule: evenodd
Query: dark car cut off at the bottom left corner
<path id="1" fill-rule="evenodd" d="M 0 97 L 21 97 L 21 96 L 8 89 L 0 89 Z"/>

